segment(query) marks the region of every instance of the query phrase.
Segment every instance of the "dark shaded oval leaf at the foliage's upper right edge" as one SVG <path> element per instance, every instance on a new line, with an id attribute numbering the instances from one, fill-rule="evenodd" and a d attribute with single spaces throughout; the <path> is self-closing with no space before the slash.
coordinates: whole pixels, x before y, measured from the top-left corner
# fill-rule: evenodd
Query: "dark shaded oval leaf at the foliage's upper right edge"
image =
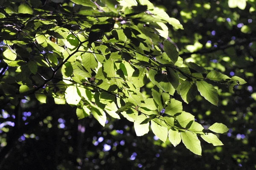
<path id="1" fill-rule="evenodd" d="M 172 44 L 172 42 L 165 40 L 163 42 L 163 50 L 166 52 L 171 61 L 175 64 L 179 57 L 179 52 L 177 51 L 175 45 Z"/>

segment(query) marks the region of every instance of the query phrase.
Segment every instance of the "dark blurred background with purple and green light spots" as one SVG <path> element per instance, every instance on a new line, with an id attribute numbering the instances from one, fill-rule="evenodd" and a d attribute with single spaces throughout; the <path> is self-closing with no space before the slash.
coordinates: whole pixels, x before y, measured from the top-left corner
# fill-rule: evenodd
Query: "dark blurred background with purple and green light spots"
<path id="1" fill-rule="evenodd" d="M 55 6 L 56 0 L 47 1 Z M 66 0 L 69 2 L 69 0 Z M 180 21 L 184 30 L 171 28 L 169 39 L 180 50 L 185 62 L 196 62 L 208 70 L 239 76 L 247 84 L 236 86 L 234 94 L 219 90 L 219 106 L 200 95 L 183 109 L 209 127 L 221 122 L 230 128 L 219 135 L 224 146 L 214 147 L 201 140 L 202 156 L 191 153 L 183 144 L 173 147 L 152 132 L 137 137 L 133 123 L 108 116 L 105 127 L 89 116 L 78 120 L 76 108 L 41 104 L 33 96 L 21 100 L 19 108 L 0 103 L 0 143 L 12 142 L 1 170 L 74 169 L 216 169 L 251 170 L 256 168 L 256 2 L 230 8 L 228 1 L 151 0 Z M 45 3 L 42 0 L 42 3 Z M 62 3 L 64 3 L 62 1 Z M 0 63 L 0 68 L 3 63 Z M 149 83 L 145 93 L 150 90 Z M 224 89 L 225 85 L 221 89 Z M 176 99 L 180 95 L 175 94 Z M 18 135 L 12 130 L 18 109 L 25 126 Z"/>

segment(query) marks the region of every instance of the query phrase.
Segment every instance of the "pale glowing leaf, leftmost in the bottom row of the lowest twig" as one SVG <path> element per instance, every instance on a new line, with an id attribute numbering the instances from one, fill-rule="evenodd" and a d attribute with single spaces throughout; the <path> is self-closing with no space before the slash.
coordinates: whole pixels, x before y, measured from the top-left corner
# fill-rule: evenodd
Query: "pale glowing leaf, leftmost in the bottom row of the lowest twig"
<path id="1" fill-rule="evenodd" d="M 134 130 L 137 136 L 143 136 L 149 131 L 149 122 L 141 125 L 141 122 L 145 119 L 147 119 L 147 116 L 141 114 L 137 116 L 137 119 L 134 122 Z"/>

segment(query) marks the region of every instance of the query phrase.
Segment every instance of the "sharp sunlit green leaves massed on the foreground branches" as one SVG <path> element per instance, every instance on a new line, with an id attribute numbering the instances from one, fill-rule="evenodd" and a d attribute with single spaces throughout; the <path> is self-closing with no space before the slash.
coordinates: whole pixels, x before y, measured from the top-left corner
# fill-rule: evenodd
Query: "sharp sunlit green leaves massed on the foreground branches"
<path id="1" fill-rule="evenodd" d="M 177 19 L 148 0 L 52 2 L 1 1 L 0 100 L 9 103 L 4 111 L 30 97 L 40 105 L 68 104 L 79 119 L 93 115 L 103 127 L 108 116 L 125 117 L 134 122 L 137 136 L 151 129 L 161 141 L 173 146 L 182 141 L 197 155 L 202 153 L 198 138 L 223 145 L 216 133 L 227 132 L 227 126 L 201 125 L 182 102 L 201 96 L 218 106 L 218 94 L 234 93 L 246 81 L 184 60 L 169 38 L 170 27 L 183 29 Z M 229 0 L 228 5 L 244 9 L 244 3 Z M 201 45 L 186 50 L 193 53 Z"/>

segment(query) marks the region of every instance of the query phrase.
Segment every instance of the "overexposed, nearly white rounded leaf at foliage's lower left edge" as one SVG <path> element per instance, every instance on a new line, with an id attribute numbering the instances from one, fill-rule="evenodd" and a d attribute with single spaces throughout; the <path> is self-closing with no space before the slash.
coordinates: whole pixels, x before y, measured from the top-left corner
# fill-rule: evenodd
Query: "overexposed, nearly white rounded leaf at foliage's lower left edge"
<path id="1" fill-rule="evenodd" d="M 65 91 L 65 99 L 68 104 L 77 105 L 80 102 L 81 97 L 79 96 L 77 91 L 78 89 L 76 88 L 76 86 L 71 85 L 67 87 Z"/>

